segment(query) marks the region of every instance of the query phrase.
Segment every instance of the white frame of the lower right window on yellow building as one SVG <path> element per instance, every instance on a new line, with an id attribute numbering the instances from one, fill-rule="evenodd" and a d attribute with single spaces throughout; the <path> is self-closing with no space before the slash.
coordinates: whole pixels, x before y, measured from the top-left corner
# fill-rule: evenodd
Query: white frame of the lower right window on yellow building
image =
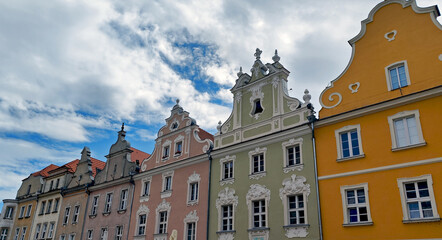
<path id="1" fill-rule="evenodd" d="M 422 182 L 426 181 L 428 185 L 428 192 L 429 197 L 426 198 L 427 201 L 430 201 L 431 207 L 433 210 L 433 217 L 431 218 L 410 218 L 409 212 L 408 212 L 408 205 L 407 205 L 407 196 L 405 192 L 405 184 L 406 183 L 413 183 L 413 182 Z M 426 174 L 418 177 L 409 177 L 409 178 L 398 178 L 397 179 L 398 187 L 399 187 L 399 194 L 401 196 L 401 205 L 402 205 L 402 221 L 404 223 L 411 223 L 411 222 L 424 222 L 424 221 L 440 221 L 440 216 L 437 211 L 437 205 L 436 200 L 434 198 L 434 191 L 433 191 L 433 178 L 431 174 Z M 420 208 L 420 207 L 419 207 Z M 420 209 L 421 211 L 421 209 Z M 422 213 L 422 212 L 421 212 Z"/>

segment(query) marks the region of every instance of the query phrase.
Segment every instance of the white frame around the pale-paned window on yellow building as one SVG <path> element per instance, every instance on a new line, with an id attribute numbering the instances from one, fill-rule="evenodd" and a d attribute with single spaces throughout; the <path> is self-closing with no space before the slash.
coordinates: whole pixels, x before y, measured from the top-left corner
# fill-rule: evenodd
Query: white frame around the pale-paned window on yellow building
<path id="1" fill-rule="evenodd" d="M 416 130 L 417 130 L 417 135 L 419 137 L 419 142 L 416 144 L 409 144 L 406 146 L 399 147 L 397 144 L 397 139 L 396 139 L 396 128 L 394 127 L 394 121 L 409 118 L 412 116 L 414 116 L 414 119 L 416 120 Z M 422 133 L 419 110 L 403 111 L 403 112 L 396 113 L 392 116 L 389 116 L 388 117 L 388 125 L 390 126 L 391 150 L 392 151 L 397 151 L 397 150 L 402 150 L 402 149 L 407 149 L 407 148 L 412 148 L 412 147 L 419 147 L 419 146 L 423 146 L 426 144 L 425 140 L 424 140 L 423 133 Z M 407 129 L 407 132 L 408 132 L 408 129 Z M 409 135 L 408 135 L 408 137 L 409 137 Z"/>

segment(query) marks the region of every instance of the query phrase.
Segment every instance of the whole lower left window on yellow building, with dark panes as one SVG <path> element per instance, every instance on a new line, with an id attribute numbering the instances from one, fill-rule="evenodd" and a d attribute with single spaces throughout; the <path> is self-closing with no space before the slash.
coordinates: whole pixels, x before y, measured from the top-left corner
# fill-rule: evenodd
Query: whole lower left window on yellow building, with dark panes
<path id="1" fill-rule="evenodd" d="M 373 224 L 368 201 L 368 184 L 341 186 L 344 225 Z"/>

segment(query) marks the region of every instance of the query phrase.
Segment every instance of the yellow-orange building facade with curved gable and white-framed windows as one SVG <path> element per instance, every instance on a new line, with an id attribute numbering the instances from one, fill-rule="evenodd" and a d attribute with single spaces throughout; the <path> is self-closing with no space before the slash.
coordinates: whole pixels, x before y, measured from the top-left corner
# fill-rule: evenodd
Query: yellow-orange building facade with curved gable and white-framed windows
<path id="1" fill-rule="evenodd" d="M 442 238 L 442 26 L 384 1 L 349 40 L 315 124 L 324 239 Z M 439 208 L 439 210 L 438 210 Z"/>

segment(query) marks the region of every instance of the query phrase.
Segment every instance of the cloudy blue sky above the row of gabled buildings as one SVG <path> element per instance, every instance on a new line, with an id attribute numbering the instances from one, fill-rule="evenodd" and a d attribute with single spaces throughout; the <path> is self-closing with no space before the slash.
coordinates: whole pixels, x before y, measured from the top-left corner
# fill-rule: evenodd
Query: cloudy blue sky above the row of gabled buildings
<path id="1" fill-rule="evenodd" d="M 122 122 L 132 146 L 151 153 L 177 98 L 215 133 L 257 47 L 263 62 L 278 49 L 290 95 L 308 88 L 319 110 L 379 1 L 0 0 L 0 200 L 83 146 L 105 160 Z"/>

